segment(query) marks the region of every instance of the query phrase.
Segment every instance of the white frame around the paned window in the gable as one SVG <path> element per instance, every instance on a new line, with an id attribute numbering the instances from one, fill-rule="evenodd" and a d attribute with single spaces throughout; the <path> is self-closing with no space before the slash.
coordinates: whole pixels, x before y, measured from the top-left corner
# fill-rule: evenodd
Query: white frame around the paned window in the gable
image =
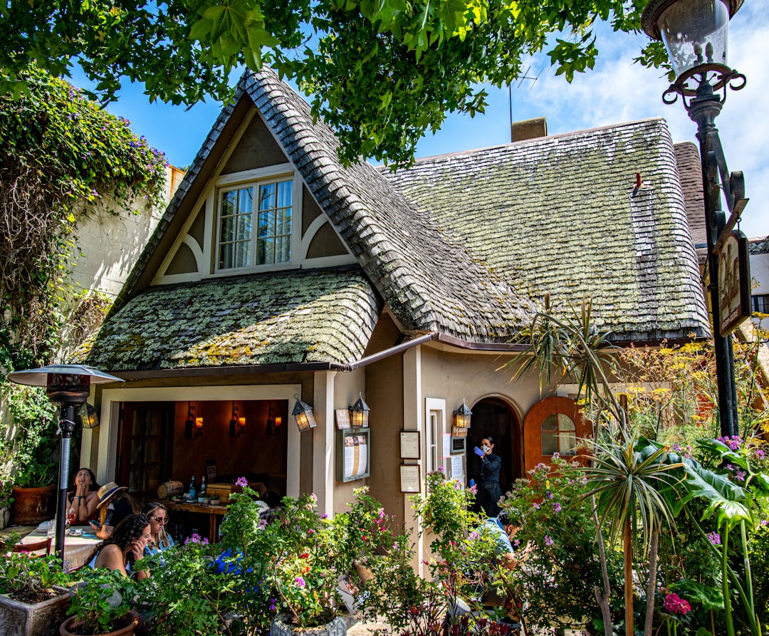
<path id="1" fill-rule="evenodd" d="M 259 185 L 270 182 L 292 181 L 291 185 L 291 238 L 289 239 L 289 249 L 291 250 L 291 258 L 288 261 L 279 263 L 265 263 L 258 265 L 257 260 L 257 243 L 258 237 L 256 236 L 258 227 L 258 191 Z M 213 254 L 211 255 L 212 270 L 211 276 L 231 276 L 234 274 L 243 274 L 254 271 L 275 271 L 281 269 L 295 268 L 300 258 L 298 255 L 299 248 L 301 246 L 301 191 L 302 181 L 301 177 L 294 170 L 292 164 L 272 165 L 268 168 L 256 168 L 255 170 L 247 170 L 241 172 L 235 172 L 231 175 L 223 175 L 215 181 L 215 187 L 212 193 L 212 240 L 211 249 Z M 251 239 L 249 240 L 249 249 L 251 250 L 251 265 L 247 267 L 233 267 L 233 268 L 220 268 L 219 267 L 219 248 L 221 244 L 221 201 L 225 191 L 231 191 L 236 188 L 254 188 L 253 201 L 251 214 Z"/>

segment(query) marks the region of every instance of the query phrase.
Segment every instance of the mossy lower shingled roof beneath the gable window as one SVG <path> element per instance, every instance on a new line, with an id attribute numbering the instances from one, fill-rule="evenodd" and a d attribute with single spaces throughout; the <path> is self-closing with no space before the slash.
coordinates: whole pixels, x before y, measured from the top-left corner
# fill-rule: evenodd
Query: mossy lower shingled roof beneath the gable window
<path id="1" fill-rule="evenodd" d="M 76 353 L 109 371 L 360 359 L 381 300 L 362 272 L 289 271 L 153 287 Z"/>

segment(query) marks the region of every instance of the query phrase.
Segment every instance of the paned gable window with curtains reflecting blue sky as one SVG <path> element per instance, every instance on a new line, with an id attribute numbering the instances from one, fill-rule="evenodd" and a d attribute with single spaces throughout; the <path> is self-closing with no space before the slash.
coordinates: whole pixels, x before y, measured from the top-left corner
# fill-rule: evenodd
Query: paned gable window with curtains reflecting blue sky
<path id="1" fill-rule="evenodd" d="M 217 271 L 291 262 L 293 199 L 291 178 L 221 188 Z"/>

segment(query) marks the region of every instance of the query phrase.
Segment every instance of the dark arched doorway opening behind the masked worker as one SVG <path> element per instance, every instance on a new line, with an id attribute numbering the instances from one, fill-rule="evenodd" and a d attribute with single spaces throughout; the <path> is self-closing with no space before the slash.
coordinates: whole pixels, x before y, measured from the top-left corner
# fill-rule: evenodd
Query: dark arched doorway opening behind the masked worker
<path id="1" fill-rule="evenodd" d="M 483 438 L 494 438 L 494 453 L 502 460 L 499 485 L 502 494 L 510 490 L 513 481 L 523 477 L 521 458 L 521 423 L 513 409 L 500 398 L 484 398 L 471 407 L 471 427 L 468 430 L 468 478 L 478 481 L 480 458 L 473 448 L 481 445 Z"/>

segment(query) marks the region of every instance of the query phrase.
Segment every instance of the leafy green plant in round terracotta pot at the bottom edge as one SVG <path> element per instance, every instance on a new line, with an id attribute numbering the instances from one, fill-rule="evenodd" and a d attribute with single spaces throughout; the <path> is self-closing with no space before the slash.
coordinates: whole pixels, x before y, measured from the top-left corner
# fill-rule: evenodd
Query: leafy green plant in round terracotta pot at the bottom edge
<path id="1" fill-rule="evenodd" d="M 61 636 L 130 636 L 138 624 L 131 609 L 135 584 L 119 571 L 88 570 L 74 588 L 70 615 L 59 628 Z"/>

